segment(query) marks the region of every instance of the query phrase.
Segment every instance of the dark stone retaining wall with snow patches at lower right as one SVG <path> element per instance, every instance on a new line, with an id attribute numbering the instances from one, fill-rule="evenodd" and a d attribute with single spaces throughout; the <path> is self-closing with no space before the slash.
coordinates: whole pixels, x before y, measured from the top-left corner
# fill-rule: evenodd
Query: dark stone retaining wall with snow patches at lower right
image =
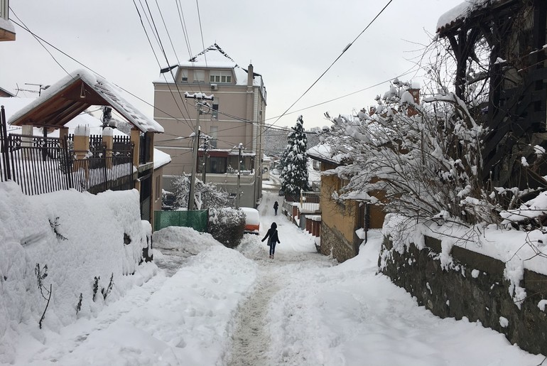
<path id="1" fill-rule="evenodd" d="M 381 272 L 416 296 L 420 305 L 441 318 L 459 320 L 465 316 L 480 321 L 520 348 L 547 355 L 547 309 L 538 307 L 547 298 L 547 276 L 524 270 L 520 286 L 527 297 L 519 308 L 509 294 L 509 281 L 504 279 L 504 262 L 454 246 L 450 253 L 453 269 L 443 269 L 436 255 L 441 248 L 438 239 L 426 237 L 425 249 L 410 245 L 404 254 L 392 245 L 384 239 Z"/>

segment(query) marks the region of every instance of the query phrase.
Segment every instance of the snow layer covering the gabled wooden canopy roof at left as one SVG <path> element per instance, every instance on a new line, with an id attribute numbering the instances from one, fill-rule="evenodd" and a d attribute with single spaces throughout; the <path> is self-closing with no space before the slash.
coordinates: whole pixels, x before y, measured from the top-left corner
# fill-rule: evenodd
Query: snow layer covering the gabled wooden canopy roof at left
<path id="1" fill-rule="evenodd" d="M 82 80 L 82 82 L 85 82 L 85 84 L 91 87 L 94 92 L 97 92 L 97 94 L 102 97 L 107 104 L 121 114 L 127 122 L 133 124 L 134 127 L 137 127 L 143 132 L 163 132 L 163 127 L 161 127 L 161 124 L 158 124 L 158 122 L 153 119 L 146 117 L 139 111 L 139 109 L 133 107 L 133 105 L 122 97 L 124 92 L 119 89 L 119 87 L 104 79 L 104 77 L 95 75 L 93 72 L 89 72 L 87 70 L 76 70 L 75 72 L 72 72 L 72 75 L 63 77 L 63 79 L 44 90 L 40 97 L 13 114 L 9 120 L 10 123 L 24 117 L 33 109 L 36 109 L 39 105 L 45 104 L 49 99 L 52 99 L 56 95 L 63 92 L 63 90 L 67 89 L 67 87 L 74 85 L 77 80 Z"/>

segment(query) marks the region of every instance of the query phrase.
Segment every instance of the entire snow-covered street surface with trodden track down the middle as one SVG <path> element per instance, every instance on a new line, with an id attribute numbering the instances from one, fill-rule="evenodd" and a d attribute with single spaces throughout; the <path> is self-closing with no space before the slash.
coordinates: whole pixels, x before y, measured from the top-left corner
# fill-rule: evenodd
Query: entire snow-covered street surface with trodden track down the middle
<path id="1" fill-rule="evenodd" d="M 158 273 L 97 316 L 13 341 L 15 365 L 539 365 L 478 323 L 433 316 L 377 275 L 380 232 L 337 264 L 265 193 L 261 236 L 237 250 L 188 228 L 158 232 Z M 281 210 L 280 210 L 281 212 Z M 269 259 L 261 238 L 275 221 Z"/>

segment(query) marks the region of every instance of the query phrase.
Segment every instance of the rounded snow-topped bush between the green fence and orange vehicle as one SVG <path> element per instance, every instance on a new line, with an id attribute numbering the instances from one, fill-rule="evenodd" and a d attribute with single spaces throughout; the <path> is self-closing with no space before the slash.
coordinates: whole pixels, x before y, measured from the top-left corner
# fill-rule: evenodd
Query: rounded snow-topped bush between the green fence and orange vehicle
<path id="1" fill-rule="evenodd" d="M 245 214 L 234 208 L 209 210 L 209 232 L 224 246 L 235 248 L 243 238 Z"/>

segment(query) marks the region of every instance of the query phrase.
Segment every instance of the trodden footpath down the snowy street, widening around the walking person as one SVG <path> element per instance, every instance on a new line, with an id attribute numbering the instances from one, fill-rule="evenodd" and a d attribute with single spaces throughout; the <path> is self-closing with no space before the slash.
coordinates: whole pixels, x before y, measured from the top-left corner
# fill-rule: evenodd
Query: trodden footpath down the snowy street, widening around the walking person
<path id="1" fill-rule="evenodd" d="M 267 320 L 268 311 L 275 304 L 271 303 L 280 289 L 290 282 L 286 275 L 304 268 L 330 267 L 334 262 L 318 254 L 313 238 L 302 232 L 283 215 L 273 215 L 273 202 L 282 198 L 274 193 L 265 193 L 259 206 L 261 214 L 261 236 L 248 235 L 239 246 L 247 258 L 259 264 L 260 271 L 254 292 L 239 308 L 236 327 L 232 335 L 231 350 L 224 362 L 226 365 L 255 366 L 270 365 L 269 345 L 271 336 Z M 281 212 L 281 210 L 278 210 Z M 276 247 L 276 259 L 269 259 L 269 247 L 259 239 L 276 222 L 280 244 Z"/>

